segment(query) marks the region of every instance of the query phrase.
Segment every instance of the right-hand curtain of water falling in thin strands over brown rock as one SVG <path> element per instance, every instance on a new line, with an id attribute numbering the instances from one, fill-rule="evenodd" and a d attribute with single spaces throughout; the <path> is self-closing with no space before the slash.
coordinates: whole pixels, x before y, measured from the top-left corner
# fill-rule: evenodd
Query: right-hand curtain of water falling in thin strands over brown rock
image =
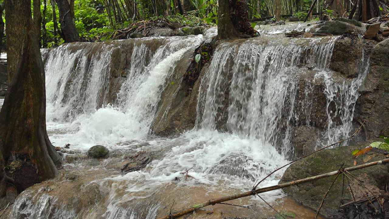
<path id="1" fill-rule="evenodd" d="M 204 109 L 201 127 L 215 129 L 219 122 L 226 123 L 229 131 L 243 138 L 275 145 L 282 129 L 288 136 L 291 120 L 304 119 L 293 114 L 298 66 L 307 62 L 318 71 L 328 71 L 335 41 L 336 37 L 316 38 L 277 45 L 251 40 L 239 46 L 219 46 L 203 80 L 202 86 L 207 89 L 200 88 L 206 92 L 199 94 L 198 108 Z M 228 115 L 224 113 L 223 117 L 225 109 Z M 305 119 L 309 119 L 309 113 Z M 292 148 L 288 140 L 281 141 L 285 154 Z"/>

